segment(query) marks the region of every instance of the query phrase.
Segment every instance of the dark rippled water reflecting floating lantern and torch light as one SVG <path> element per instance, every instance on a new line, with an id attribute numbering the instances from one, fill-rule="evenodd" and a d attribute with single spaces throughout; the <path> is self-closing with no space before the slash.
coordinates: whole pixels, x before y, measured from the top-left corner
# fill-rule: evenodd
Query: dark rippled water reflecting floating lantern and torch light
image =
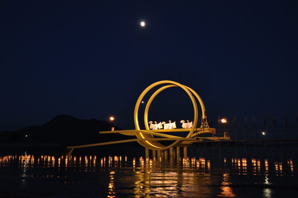
<path id="1" fill-rule="evenodd" d="M 27 154 L 27 155 L 26 155 Z M 81 159 L 80 159 L 81 157 Z M 24 152 L 3 155 L 0 162 L 0 197 L 296 197 L 297 174 L 283 163 L 266 168 L 232 163 L 221 167 L 176 160 L 144 164 L 122 155 L 105 163 L 103 156 L 66 157 Z M 118 156 L 119 157 L 119 156 Z M 60 158 L 60 159 L 59 159 Z M 197 160 L 197 159 L 196 159 Z M 223 160 L 223 159 L 222 159 Z M 268 169 L 268 170 L 266 170 Z"/>

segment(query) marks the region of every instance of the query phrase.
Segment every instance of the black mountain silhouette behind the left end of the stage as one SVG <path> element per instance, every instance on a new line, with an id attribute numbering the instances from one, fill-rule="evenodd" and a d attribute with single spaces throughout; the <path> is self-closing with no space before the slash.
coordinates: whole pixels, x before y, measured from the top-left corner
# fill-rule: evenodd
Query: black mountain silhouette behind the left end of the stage
<path id="1" fill-rule="evenodd" d="M 53 142 L 63 147 L 134 138 L 122 134 L 99 134 L 100 131 L 108 131 L 110 127 L 111 123 L 102 120 L 80 120 L 69 115 L 59 115 L 41 126 L 0 132 L 0 138 L 1 141 Z M 115 130 L 122 130 L 114 127 Z"/>

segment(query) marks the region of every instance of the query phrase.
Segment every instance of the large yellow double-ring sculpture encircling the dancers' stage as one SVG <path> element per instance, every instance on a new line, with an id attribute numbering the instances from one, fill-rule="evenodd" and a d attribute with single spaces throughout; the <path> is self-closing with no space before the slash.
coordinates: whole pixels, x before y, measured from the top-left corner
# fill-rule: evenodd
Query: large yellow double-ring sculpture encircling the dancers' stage
<path id="1" fill-rule="evenodd" d="M 200 103 L 200 106 L 201 106 L 201 109 L 202 109 L 202 118 L 204 119 L 205 118 L 205 107 L 204 107 L 204 104 L 203 104 L 203 101 L 201 100 L 201 98 L 199 97 L 199 95 L 191 88 L 187 87 L 187 86 L 184 86 L 180 83 L 176 83 L 174 81 L 159 81 L 159 82 L 156 82 L 156 83 L 153 83 L 152 85 L 148 86 L 143 92 L 142 94 L 139 96 L 137 102 L 136 102 L 136 106 L 135 106 L 135 109 L 134 109 L 134 124 L 136 126 L 136 130 L 140 130 L 140 127 L 139 127 L 139 119 L 138 119 L 138 111 L 139 111 L 139 106 L 142 102 L 142 99 L 144 98 L 144 96 L 147 94 L 147 92 L 149 90 L 151 90 L 152 88 L 154 88 L 155 86 L 158 86 L 158 85 L 161 85 L 161 84 L 168 84 L 166 86 L 163 86 L 161 88 L 159 88 L 156 92 L 153 93 L 153 95 L 150 97 L 150 99 L 148 100 L 148 103 L 146 105 L 146 108 L 145 108 L 145 113 L 144 113 L 144 122 L 145 122 L 145 128 L 146 130 L 149 130 L 149 125 L 148 125 L 148 110 L 149 110 L 149 107 L 150 107 L 150 104 L 152 102 L 152 100 L 156 97 L 157 94 L 159 94 L 159 92 L 161 92 L 162 90 L 164 89 L 167 89 L 167 88 L 170 88 L 170 87 L 174 87 L 174 86 L 178 86 L 178 87 L 181 87 L 190 97 L 192 103 L 193 103 L 193 109 L 194 109 L 194 122 L 193 122 L 193 128 L 190 129 L 190 132 L 187 134 L 187 138 L 188 137 L 191 137 L 191 135 L 193 134 L 193 132 L 196 130 L 196 126 L 197 126 L 197 123 L 198 123 L 198 107 L 197 107 L 197 103 L 195 101 L 195 98 L 197 98 L 197 100 L 199 101 Z M 165 129 L 160 129 L 160 130 L 165 130 Z M 170 129 L 170 130 L 173 130 L 173 129 Z M 181 131 L 183 131 L 183 129 L 181 129 Z M 165 150 L 165 149 L 168 149 L 172 146 L 179 146 L 179 144 L 181 144 L 181 142 L 183 140 L 176 140 L 174 143 L 170 144 L 169 146 L 164 146 L 162 145 L 161 143 L 159 143 L 158 141 L 156 140 L 142 140 L 142 139 L 152 139 L 154 138 L 152 134 L 145 134 L 145 133 L 142 133 L 142 132 L 136 132 L 136 137 L 139 139 L 137 142 L 148 148 L 148 149 L 152 149 L 152 150 Z"/>

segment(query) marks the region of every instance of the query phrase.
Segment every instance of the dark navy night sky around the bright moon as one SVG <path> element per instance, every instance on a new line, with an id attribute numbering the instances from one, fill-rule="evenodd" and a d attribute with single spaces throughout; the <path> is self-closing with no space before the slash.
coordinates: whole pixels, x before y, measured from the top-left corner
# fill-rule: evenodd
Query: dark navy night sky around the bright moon
<path id="1" fill-rule="evenodd" d="M 0 21 L 0 131 L 61 114 L 134 129 L 136 100 L 161 80 L 194 89 L 213 127 L 297 124 L 298 1 L 2 0 Z M 187 97 L 160 93 L 149 120 L 192 119 Z"/>

